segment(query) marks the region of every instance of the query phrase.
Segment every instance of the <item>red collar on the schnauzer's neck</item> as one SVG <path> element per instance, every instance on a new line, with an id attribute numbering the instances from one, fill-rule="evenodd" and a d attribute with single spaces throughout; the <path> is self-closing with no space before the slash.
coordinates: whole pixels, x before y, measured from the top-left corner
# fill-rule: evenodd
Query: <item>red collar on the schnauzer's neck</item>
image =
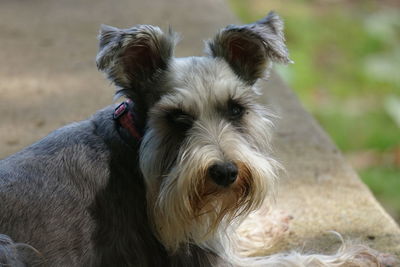
<path id="1" fill-rule="evenodd" d="M 134 103 L 131 99 L 127 99 L 115 108 L 113 118 L 116 120 L 123 128 L 128 130 L 128 132 L 135 137 L 137 140 L 142 138 L 140 131 L 136 128 L 136 116 L 132 112 L 132 107 Z"/>

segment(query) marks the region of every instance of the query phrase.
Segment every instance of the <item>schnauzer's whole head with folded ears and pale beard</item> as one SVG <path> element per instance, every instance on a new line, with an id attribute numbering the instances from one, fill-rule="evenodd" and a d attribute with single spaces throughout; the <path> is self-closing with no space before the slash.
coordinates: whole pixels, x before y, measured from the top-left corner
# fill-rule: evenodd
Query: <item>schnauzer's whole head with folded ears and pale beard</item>
<path id="1" fill-rule="evenodd" d="M 102 27 L 98 67 L 146 120 L 140 167 L 150 220 L 168 250 L 206 242 L 271 192 L 271 114 L 256 103 L 255 83 L 272 62 L 290 61 L 282 30 L 270 13 L 220 30 L 204 57 L 174 58 L 172 31 Z"/>

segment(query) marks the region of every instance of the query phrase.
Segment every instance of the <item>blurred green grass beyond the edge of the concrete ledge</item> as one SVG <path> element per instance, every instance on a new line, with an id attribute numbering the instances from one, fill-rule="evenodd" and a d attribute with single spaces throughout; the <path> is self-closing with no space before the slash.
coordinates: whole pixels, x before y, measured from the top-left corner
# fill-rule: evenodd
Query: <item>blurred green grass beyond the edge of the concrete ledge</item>
<path id="1" fill-rule="evenodd" d="M 400 1 L 230 4 L 245 23 L 281 15 L 295 64 L 278 72 L 400 222 Z"/>

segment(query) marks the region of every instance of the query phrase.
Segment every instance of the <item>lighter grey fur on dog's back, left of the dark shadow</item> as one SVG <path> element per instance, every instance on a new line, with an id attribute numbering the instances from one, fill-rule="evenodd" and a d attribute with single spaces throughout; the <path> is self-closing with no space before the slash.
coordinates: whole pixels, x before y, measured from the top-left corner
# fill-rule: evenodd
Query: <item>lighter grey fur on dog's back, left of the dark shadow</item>
<path id="1" fill-rule="evenodd" d="M 46 265 L 91 265 L 88 207 L 109 176 L 109 152 L 95 131 L 93 118 L 73 123 L 0 161 L 0 233 L 47 255 Z"/>

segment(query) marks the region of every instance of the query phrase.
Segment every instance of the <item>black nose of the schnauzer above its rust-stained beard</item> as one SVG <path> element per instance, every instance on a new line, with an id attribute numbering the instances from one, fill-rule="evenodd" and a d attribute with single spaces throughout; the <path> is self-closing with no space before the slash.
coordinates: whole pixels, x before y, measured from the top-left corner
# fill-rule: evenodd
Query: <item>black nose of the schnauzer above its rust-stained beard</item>
<path id="1" fill-rule="evenodd" d="M 211 165 L 208 174 L 217 185 L 227 187 L 236 180 L 238 169 L 233 162 L 219 162 Z"/>

